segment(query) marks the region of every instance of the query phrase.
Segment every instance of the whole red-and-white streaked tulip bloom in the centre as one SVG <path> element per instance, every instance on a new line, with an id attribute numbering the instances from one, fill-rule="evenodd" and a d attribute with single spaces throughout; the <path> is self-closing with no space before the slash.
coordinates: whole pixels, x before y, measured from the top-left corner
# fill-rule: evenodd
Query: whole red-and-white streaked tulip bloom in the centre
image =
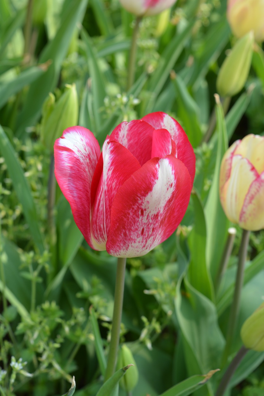
<path id="1" fill-rule="evenodd" d="M 102 152 L 86 128 L 54 145 L 55 176 L 88 244 L 115 257 L 138 257 L 166 240 L 187 209 L 195 155 L 165 113 L 122 122 Z"/>

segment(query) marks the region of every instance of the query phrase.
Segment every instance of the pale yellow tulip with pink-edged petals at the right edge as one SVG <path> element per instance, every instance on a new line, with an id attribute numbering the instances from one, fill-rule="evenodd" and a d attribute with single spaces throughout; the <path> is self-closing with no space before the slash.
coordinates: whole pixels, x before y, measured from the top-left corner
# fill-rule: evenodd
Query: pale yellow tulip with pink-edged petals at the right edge
<path id="1" fill-rule="evenodd" d="M 245 230 L 264 228 L 264 137 L 247 135 L 226 151 L 220 201 L 226 216 Z"/>

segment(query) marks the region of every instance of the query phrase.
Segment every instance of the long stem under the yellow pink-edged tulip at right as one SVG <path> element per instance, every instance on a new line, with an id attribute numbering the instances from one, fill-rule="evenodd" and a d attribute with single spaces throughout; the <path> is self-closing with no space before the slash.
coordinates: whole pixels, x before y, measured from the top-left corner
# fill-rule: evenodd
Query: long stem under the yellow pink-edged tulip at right
<path id="1" fill-rule="evenodd" d="M 243 287 L 243 280 L 244 280 L 245 261 L 247 257 L 247 247 L 249 245 L 249 234 L 250 231 L 243 230 L 241 245 L 239 249 L 237 276 L 235 280 L 235 292 L 229 314 L 228 331 L 226 336 L 226 348 L 223 354 L 222 366 L 224 366 L 228 360 L 230 348 L 233 341 L 233 335 L 237 324 L 237 317 L 239 314 L 239 307 L 240 307 L 241 290 Z"/>

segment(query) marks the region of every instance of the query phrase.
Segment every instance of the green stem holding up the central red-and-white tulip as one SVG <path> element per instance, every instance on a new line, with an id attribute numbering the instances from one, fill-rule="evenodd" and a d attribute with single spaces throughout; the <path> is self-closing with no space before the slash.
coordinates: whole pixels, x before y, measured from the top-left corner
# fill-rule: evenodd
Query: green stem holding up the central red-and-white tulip
<path id="1" fill-rule="evenodd" d="M 115 372 L 117 352 L 119 346 L 120 325 L 122 318 L 123 295 L 124 295 L 124 277 L 126 272 L 126 259 L 119 257 L 117 259 L 117 276 L 115 280 L 115 301 L 111 330 L 111 341 L 107 367 L 105 371 L 105 381 Z"/>

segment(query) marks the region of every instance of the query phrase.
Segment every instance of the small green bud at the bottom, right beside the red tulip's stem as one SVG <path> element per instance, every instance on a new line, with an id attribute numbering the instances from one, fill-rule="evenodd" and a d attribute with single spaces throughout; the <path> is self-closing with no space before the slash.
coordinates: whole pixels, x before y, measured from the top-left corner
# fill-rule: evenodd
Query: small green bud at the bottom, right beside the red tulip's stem
<path id="1" fill-rule="evenodd" d="M 121 388 L 126 392 L 130 392 L 138 383 L 138 367 L 136 366 L 131 350 L 128 346 L 123 344 L 121 348 L 119 348 L 116 369 L 121 369 L 129 364 L 133 364 L 134 366 L 131 366 L 130 370 L 127 371 L 126 375 L 124 375 L 119 382 Z"/>

